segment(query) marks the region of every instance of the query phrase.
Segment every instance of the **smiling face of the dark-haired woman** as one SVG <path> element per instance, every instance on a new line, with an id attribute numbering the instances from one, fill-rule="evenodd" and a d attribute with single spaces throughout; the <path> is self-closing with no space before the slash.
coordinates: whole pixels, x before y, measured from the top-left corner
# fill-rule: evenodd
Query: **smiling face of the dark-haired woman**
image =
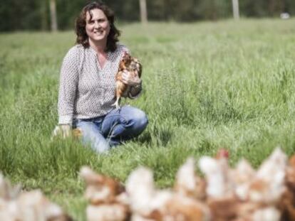
<path id="1" fill-rule="evenodd" d="M 86 13 L 86 33 L 88 38 L 93 42 L 106 41 L 108 33 L 110 33 L 110 23 L 102 10 L 92 9 Z"/>

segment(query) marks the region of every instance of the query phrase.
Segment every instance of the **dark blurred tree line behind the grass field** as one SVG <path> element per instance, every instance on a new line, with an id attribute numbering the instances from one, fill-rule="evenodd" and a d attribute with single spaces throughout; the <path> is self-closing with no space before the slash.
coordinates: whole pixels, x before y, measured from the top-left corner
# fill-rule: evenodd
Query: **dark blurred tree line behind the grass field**
<path id="1" fill-rule="evenodd" d="M 50 30 L 50 0 L 0 0 L 0 31 Z M 89 1 L 55 0 L 58 29 L 73 28 L 79 12 Z M 140 21 L 139 0 L 105 0 L 117 21 Z M 192 22 L 232 18 L 232 0 L 147 0 L 148 21 Z M 242 17 L 295 15 L 294 0 L 239 0 Z"/>

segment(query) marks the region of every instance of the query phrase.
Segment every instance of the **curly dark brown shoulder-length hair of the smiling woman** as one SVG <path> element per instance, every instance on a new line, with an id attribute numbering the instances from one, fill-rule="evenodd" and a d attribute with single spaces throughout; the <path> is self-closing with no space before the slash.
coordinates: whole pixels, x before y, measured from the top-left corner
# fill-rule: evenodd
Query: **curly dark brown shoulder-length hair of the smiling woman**
<path id="1" fill-rule="evenodd" d="M 101 1 L 93 1 L 90 4 L 87 4 L 81 11 L 78 18 L 76 18 L 76 43 L 82 44 L 84 48 L 89 47 L 88 35 L 86 33 L 86 14 L 87 12 L 90 14 L 90 11 L 93 9 L 100 9 L 103 11 L 105 16 L 108 18 L 108 22 L 110 23 L 110 33 L 108 34 L 107 45 L 105 51 L 115 51 L 117 49 L 117 42 L 119 41 L 120 31 L 115 27 L 115 15 L 113 10 L 111 10 L 108 6 L 103 4 Z M 92 18 L 92 14 L 90 14 L 90 19 Z"/>

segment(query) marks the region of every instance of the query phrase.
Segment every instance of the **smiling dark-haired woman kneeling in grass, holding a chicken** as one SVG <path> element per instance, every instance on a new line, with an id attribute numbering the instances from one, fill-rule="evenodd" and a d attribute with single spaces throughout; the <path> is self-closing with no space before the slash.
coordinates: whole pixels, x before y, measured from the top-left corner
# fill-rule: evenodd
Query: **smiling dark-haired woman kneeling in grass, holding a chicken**
<path id="1" fill-rule="evenodd" d="M 63 135 L 72 127 L 82 132 L 84 144 L 102 153 L 111 146 L 138 136 L 148 124 L 143 111 L 124 106 L 114 109 L 115 74 L 128 49 L 118 43 L 120 32 L 114 14 L 98 1 L 85 6 L 76 19 L 76 45 L 63 59 L 58 95 L 58 128 Z M 124 73 L 125 84 L 132 86 L 129 97 L 138 97 L 141 80 L 135 82 Z"/>

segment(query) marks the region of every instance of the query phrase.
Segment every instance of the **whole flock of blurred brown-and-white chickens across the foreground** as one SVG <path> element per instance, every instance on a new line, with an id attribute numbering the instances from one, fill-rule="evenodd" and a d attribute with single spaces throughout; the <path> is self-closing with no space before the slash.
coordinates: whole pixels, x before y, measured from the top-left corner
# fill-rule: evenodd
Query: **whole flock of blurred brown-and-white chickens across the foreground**
<path id="1" fill-rule="evenodd" d="M 198 162 L 204 178 L 188 158 L 177 172 L 172 189 L 155 188 L 152 171 L 140 167 L 125 187 L 88 167 L 80 175 L 86 182 L 88 221 L 295 220 L 295 155 L 289 160 L 275 149 L 254 170 L 244 159 L 229 167 L 228 152 Z M 38 191 L 20 193 L 0 177 L 0 220 L 71 220 L 60 207 Z"/>

